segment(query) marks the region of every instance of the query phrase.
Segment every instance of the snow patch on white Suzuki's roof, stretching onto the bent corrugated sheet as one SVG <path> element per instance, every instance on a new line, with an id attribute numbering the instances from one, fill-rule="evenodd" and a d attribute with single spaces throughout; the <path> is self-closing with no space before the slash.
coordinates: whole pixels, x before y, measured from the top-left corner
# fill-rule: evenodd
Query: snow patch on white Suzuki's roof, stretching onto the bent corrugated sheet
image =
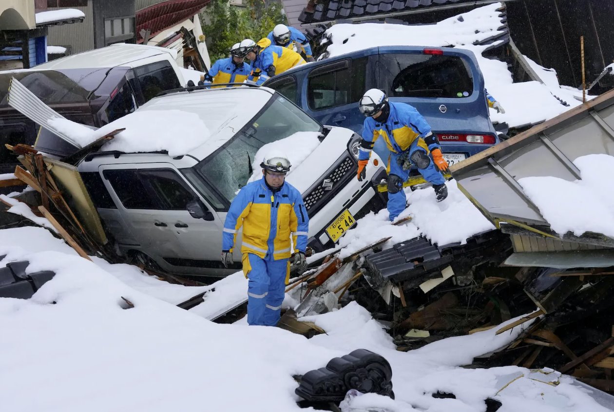
<path id="1" fill-rule="evenodd" d="M 68 119 L 52 119 L 48 123 L 82 147 L 107 133 L 125 128 L 101 149 L 125 153 L 166 150 L 169 156 L 185 155 L 202 146 L 211 135 L 197 114 L 179 110 L 136 111 L 98 130 Z"/>

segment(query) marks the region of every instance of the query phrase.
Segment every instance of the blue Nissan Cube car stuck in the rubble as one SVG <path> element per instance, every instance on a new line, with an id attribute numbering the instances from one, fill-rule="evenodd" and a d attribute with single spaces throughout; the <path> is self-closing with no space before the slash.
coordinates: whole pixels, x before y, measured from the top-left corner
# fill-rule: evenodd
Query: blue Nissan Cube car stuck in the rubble
<path id="1" fill-rule="evenodd" d="M 449 165 L 499 143 L 488 114 L 484 78 L 470 50 L 372 47 L 297 66 L 263 85 L 322 124 L 359 134 L 365 118 L 358 101 L 368 89 L 380 88 L 391 101 L 418 109 L 437 134 Z M 376 141 L 374 150 L 387 159 L 383 139 Z"/>

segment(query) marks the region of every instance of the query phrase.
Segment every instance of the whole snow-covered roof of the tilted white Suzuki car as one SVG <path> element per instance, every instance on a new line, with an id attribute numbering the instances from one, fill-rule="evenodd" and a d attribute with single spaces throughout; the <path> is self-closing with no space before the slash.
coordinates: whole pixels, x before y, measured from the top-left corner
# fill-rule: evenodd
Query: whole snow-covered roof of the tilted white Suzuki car
<path id="1" fill-rule="evenodd" d="M 97 133 L 126 129 L 103 150 L 167 150 L 169 155 L 203 160 L 235 136 L 274 94 L 270 88 L 245 86 L 176 91 L 151 99 Z"/>

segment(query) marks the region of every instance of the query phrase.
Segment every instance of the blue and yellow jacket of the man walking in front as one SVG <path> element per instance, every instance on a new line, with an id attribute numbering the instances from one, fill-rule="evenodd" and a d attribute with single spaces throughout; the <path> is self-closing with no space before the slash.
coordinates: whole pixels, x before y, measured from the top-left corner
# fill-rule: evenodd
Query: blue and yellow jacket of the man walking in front
<path id="1" fill-rule="evenodd" d="M 230 204 L 224 222 L 222 250 L 232 252 L 236 233 L 243 226 L 241 253 L 261 258 L 289 258 L 290 235 L 295 251 L 305 253 L 309 217 L 300 192 L 284 182 L 271 191 L 263 176 L 245 185 Z"/>

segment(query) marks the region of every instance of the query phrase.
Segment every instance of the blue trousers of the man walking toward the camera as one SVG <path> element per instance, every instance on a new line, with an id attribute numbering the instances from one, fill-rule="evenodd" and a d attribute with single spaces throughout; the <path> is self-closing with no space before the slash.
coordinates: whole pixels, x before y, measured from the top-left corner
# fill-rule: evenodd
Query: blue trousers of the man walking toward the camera
<path id="1" fill-rule="evenodd" d="M 279 321 L 290 270 L 289 260 L 243 254 L 247 286 L 247 324 L 275 326 Z"/>

